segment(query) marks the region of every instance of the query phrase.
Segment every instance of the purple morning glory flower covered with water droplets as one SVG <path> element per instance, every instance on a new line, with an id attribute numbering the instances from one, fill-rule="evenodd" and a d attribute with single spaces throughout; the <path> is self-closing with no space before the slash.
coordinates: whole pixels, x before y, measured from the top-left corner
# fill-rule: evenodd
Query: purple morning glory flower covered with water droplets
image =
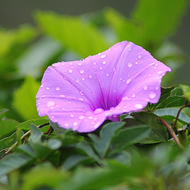
<path id="1" fill-rule="evenodd" d="M 36 95 L 39 116 L 78 132 L 96 130 L 106 119 L 138 111 L 160 98 L 171 69 L 132 42 L 123 41 L 84 60 L 48 67 Z"/>

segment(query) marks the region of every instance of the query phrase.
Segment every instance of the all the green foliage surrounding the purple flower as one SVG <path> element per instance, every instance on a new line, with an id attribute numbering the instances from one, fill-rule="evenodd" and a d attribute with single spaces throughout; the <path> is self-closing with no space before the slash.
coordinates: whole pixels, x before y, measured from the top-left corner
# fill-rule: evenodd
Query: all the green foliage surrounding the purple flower
<path id="1" fill-rule="evenodd" d="M 181 111 L 175 127 L 183 150 L 159 119 L 173 124 L 179 108 L 189 106 L 189 86 L 162 88 L 157 104 L 90 134 L 54 123 L 55 131 L 44 134 L 49 124 L 39 126 L 49 119 L 38 117 L 35 103 L 48 65 L 94 55 L 122 40 L 171 67 L 163 84 L 172 84 L 184 54 L 169 37 L 187 5 L 188 0 L 139 0 L 129 18 L 111 8 L 76 17 L 36 11 L 35 26 L 1 28 L 0 156 L 19 146 L 0 160 L 0 189 L 190 189 L 189 110 Z"/>

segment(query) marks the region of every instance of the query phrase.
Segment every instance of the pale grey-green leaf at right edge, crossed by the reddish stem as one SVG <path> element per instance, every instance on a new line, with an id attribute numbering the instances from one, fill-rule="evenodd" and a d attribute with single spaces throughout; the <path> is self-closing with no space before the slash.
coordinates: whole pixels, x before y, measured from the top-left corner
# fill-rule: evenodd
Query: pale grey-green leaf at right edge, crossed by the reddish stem
<path id="1" fill-rule="evenodd" d="M 154 112 L 157 116 L 160 116 L 162 119 L 166 121 L 174 121 L 177 116 L 179 109 L 178 108 L 165 108 L 165 109 L 158 109 Z M 180 112 L 178 117 L 179 121 L 188 124 L 190 123 L 190 118 L 183 112 Z"/>

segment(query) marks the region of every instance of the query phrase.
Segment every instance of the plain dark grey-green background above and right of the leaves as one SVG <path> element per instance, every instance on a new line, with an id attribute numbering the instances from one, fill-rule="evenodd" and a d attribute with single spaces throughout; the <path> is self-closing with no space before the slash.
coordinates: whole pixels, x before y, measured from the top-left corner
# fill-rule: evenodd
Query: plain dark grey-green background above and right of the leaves
<path id="1" fill-rule="evenodd" d="M 129 17 L 136 0 L 0 0 L 0 27 L 17 28 L 23 23 L 34 24 L 32 12 L 52 10 L 60 14 L 78 15 L 112 7 Z M 176 33 L 170 38 L 186 55 L 186 64 L 179 69 L 175 83 L 190 84 L 190 7 Z"/>

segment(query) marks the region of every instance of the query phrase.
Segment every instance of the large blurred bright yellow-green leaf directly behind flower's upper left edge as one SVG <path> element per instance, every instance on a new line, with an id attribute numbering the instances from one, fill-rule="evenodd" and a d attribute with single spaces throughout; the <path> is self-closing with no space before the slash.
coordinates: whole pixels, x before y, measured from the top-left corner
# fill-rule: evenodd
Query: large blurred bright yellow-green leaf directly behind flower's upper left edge
<path id="1" fill-rule="evenodd" d="M 79 17 L 38 11 L 35 19 L 42 30 L 83 58 L 108 48 L 102 34 Z"/>

